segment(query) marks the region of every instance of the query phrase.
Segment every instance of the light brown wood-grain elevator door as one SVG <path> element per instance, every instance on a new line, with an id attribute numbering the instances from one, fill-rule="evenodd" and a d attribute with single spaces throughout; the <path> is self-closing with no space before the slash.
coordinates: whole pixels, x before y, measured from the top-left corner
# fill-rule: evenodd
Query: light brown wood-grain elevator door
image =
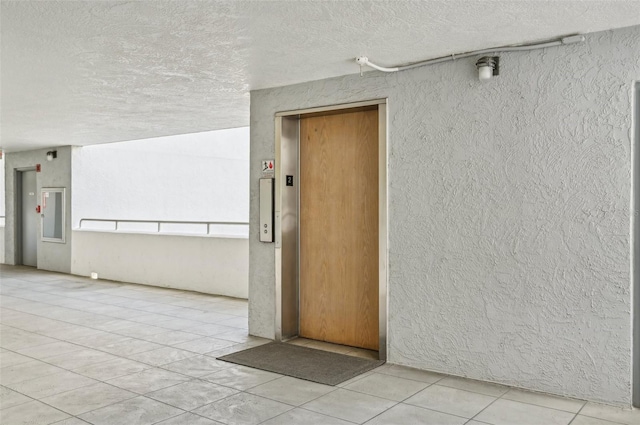
<path id="1" fill-rule="evenodd" d="M 300 336 L 378 349 L 378 110 L 300 118 Z"/>

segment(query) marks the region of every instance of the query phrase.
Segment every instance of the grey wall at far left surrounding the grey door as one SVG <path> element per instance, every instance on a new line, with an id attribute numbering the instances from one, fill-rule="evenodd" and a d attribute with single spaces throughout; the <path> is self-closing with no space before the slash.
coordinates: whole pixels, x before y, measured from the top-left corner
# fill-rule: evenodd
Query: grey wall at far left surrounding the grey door
<path id="1" fill-rule="evenodd" d="M 25 152 L 11 152 L 5 154 L 5 262 L 16 263 L 16 170 L 34 169 L 36 164 L 42 165 L 42 171 L 36 173 L 36 193 L 40 196 L 43 187 L 64 187 L 65 194 L 65 229 L 66 242 L 43 242 L 38 239 L 38 268 L 62 273 L 71 272 L 71 157 L 73 148 L 63 146 L 56 148 L 57 158 L 51 162 L 46 159 L 49 149 L 38 149 Z M 38 235 L 40 230 L 38 230 Z"/>

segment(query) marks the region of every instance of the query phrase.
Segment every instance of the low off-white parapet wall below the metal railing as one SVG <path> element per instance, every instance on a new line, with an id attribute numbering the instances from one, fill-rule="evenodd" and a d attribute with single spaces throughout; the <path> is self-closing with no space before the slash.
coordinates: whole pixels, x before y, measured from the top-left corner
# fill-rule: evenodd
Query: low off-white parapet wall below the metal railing
<path id="1" fill-rule="evenodd" d="M 73 232 L 73 274 L 247 298 L 246 238 Z"/>

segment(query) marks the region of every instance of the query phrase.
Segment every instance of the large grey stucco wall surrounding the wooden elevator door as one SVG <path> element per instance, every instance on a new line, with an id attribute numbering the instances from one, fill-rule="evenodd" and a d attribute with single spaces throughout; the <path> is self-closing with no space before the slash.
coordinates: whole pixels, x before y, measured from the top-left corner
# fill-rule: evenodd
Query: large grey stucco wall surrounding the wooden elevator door
<path id="1" fill-rule="evenodd" d="M 392 363 L 631 402 L 631 93 L 640 27 L 581 45 L 252 92 L 250 332 L 274 337 L 258 242 L 274 113 L 389 99 Z"/>

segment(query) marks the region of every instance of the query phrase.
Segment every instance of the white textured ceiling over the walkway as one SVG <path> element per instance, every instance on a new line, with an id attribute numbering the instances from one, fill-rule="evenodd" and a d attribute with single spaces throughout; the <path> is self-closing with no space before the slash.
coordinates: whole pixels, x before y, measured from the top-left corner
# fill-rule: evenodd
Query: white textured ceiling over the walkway
<path id="1" fill-rule="evenodd" d="M 640 24 L 640 1 L 4 1 L 0 146 L 249 124 L 249 90 Z"/>

